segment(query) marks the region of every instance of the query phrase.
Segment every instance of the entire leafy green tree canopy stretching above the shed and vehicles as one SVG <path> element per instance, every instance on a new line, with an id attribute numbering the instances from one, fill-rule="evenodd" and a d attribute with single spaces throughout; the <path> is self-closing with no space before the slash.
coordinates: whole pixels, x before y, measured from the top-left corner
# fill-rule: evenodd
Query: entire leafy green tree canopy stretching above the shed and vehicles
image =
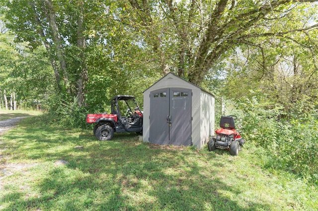
<path id="1" fill-rule="evenodd" d="M 291 74 L 306 72 L 310 80 L 317 69 L 314 1 L 3 0 L 0 5 L 16 42 L 25 42 L 31 52 L 45 47 L 57 94 L 79 106 L 100 106 L 115 93 L 142 96 L 168 71 L 210 90 L 214 79 L 245 73 L 274 82 L 277 64 L 292 65 Z M 285 85 L 299 82 L 283 76 Z M 290 95 L 307 89 L 310 83 L 302 81 L 292 84 Z"/>

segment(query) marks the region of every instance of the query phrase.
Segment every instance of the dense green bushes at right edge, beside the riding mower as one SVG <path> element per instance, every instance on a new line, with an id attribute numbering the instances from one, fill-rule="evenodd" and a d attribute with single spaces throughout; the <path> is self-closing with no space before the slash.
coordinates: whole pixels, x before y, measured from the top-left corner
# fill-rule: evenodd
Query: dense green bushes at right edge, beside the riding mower
<path id="1" fill-rule="evenodd" d="M 283 112 L 280 105 L 260 103 L 257 98 L 239 102 L 239 109 L 244 113 L 243 137 L 266 150 L 273 160 L 269 166 L 292 170 L 318 184 L 318 120 L 315 109 L 295 115 Z"/>

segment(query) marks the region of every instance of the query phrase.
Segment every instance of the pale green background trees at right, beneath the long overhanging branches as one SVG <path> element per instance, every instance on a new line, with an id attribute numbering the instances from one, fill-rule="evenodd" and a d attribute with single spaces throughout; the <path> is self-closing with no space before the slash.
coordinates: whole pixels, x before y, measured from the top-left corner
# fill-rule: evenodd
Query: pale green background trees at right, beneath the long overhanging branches
<path id="1" fill-rule="evenodd" d="M 290 41 L 262 39 L 259 45 L 236 49 L 223 67 L 227 77 L 222 93 L 234 100 L 265 95 L 272 106 L 283 105 L 287 113 L 312 110 L 318 99 L 318 48 L 309 44 L 316 38 L 312 31 L 306 37 L 295 34 Z"/>

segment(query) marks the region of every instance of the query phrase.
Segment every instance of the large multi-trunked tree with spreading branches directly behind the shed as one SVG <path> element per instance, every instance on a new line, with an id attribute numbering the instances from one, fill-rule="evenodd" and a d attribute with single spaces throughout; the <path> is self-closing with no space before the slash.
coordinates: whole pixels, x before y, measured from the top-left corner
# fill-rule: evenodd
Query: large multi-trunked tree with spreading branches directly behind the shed
<path id="1" fill-rule="evenodd" d="M 295 33 L 308 36 L 318 27 L 306 21 L 305 14 L 314 15 L 308 11 L 317 11 L 317 4 L 307 3 L 313 1 L 128 0 L 123 5 L 123 21 L 130 19 L 127 24 L 144 32 L 143 40 L 153 47 L 164 73 L 176 71 L 200 85 L 229 50 L 258 45 L 254 38 L 288 40 Z M 284 27 L 293 22 L 302 25 Z"/>

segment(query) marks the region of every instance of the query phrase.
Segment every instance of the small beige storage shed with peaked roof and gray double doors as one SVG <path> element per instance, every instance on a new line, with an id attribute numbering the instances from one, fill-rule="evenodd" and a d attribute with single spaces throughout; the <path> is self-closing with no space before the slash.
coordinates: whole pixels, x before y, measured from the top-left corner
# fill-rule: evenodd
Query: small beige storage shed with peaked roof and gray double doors
<path id="1" fill-rule="evenodd" d="M 168 73 L 144 92 L 143 141 L 201 149 L 214 135 L 214 96 Z"/>

